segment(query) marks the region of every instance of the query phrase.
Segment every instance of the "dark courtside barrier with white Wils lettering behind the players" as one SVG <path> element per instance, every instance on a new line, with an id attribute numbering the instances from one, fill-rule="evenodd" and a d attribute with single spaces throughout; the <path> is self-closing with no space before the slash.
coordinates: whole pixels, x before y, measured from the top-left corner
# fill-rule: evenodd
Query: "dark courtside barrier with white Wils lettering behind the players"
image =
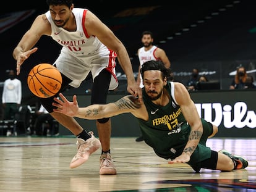
<path id="1" fill-rule="evenodd" d="M 216 137 L 256 137 L 256 90 L 195 91 L 190 93 L 198 114 L 219 127 Z M 108 102 L 117 101 L 124 94 L 109 94 Z M 69 100 L 72 96 L 67 96 Z M 78 95 L 79 106 L 90 104 L 90 94 Z M 95 131 L 95 120 L 77 119 L 87 131 Z M 137 119 L 131 114 L 111 118 L 112 136 L 140 135 Z M 60 135 L 70 132 L 60 128 Z"/>

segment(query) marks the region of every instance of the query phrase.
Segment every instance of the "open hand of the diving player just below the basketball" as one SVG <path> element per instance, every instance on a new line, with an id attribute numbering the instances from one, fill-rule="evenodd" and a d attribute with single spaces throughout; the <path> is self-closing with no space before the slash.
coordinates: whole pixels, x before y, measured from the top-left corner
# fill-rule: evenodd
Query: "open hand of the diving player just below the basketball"
<path id="1" fill-rule="evenodd" d="M 69 117 L 74 117 L 75 115 L 77 115 L 77 112 L 79 111 L 77 96 L 73 96 L 73 102 L 67 100 L 67 98 L 65 98 L 65 96 L 62 93 L 59 93 L 59 97 L 61 99 L 54 98 L 54 101 L 56 102 L 53 102 L 53 106 L 58 108 L 53 109 L 53 111 L 65 114 Z"/>

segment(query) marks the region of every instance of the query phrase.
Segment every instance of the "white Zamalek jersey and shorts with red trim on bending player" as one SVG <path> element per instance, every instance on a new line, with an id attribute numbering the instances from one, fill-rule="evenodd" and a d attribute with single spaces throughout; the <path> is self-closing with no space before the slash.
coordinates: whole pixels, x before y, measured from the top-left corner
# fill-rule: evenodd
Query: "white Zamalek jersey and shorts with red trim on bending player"
<path id="1" fill-rule="evenodd" d="M 113 87 L 116 87 L 116 52 L 109 50 L 96 36 L 88 36 L 84 25 L 87 9 L 74 8 L 72 13 L 77 24 L 76 31 L 57 27 L 50 12 L 45 14 L 51 24 L 51 37 L 62 46 L 54 64 L 61 73 L 73 80 L 71 86 L 78 87 L 90 71 L 94 80 L 101 70 L 107 69 L 114 78 L 111 85 L 114 83 Z"/>

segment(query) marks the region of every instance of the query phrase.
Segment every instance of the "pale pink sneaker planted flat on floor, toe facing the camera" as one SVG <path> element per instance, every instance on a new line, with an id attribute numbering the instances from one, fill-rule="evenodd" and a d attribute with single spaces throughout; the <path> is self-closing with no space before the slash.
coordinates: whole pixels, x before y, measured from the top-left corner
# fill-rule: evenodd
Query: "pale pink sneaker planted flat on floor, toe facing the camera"
<path id="1" fill-rule="evenodd" d="M 100 175 L 116 175 L 116 168 L 109 153 L 100 156 Z"/>

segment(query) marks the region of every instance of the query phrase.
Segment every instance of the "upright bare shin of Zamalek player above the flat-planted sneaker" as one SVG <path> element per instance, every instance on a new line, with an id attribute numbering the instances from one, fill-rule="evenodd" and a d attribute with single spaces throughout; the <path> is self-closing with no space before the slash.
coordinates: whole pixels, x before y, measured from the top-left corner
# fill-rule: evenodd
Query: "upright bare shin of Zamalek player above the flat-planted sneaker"
<path id="1" fill-rule="evenodd" d="M 98 130 L 102 151 L 108 151 L 110 149 L 110 137 L 111 137 L 111 119 L 109 118 L 106 123 L 99 123 L 96 120 L 96 127 Z"/>

